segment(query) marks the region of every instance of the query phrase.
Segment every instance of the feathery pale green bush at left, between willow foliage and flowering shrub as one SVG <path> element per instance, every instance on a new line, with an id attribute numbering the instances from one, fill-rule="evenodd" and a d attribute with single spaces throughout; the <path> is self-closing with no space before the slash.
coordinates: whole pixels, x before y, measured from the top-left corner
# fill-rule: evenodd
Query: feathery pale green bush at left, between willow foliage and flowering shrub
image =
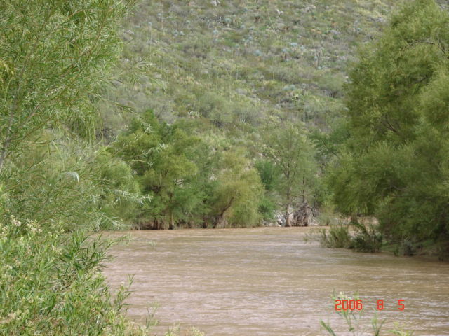
<path id="1" fill-rule="evenodd" d="M 0 207 L 7 202 L 5 211 L 20 220 L 63 223 L 65 230 L 119 229 L 131 221 L 144 198 L 126 162 L 107 148 L 61 138 L 45 132 L 6 162 Z"/>

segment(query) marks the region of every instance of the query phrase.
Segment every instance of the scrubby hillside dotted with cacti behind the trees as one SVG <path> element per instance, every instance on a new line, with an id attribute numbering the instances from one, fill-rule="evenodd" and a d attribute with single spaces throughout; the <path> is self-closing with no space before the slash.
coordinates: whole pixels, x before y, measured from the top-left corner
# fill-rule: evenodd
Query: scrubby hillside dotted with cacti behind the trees
<path id="1" fill-rule="evenodd" d="M 286 118 L 328 130 L 343 108 L 347 64 L 395 3 L 142 1 L 124 22 L 122 62 L 147 62 L 147 74 L 116 82 L 112 97 L 169 123 L 208 120 L 236 138 Z M 106 119 L 120 128 L 120 118 Z"/>

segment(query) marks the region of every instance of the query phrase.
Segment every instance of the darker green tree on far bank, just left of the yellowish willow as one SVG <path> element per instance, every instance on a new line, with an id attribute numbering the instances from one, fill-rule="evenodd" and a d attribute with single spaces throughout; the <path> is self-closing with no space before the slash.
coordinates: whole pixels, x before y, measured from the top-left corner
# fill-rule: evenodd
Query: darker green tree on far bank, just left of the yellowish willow
<path id="1" fill-rule="evenodd" d="M 207 152 L 208 147 L 199 137 L 177 124 L 159 122 L 148 110 L 133 120 L 114 146 L 135 172 L 142 193 L 152 199 L 140 209 L 140 219 L 152 221 L 153 228 L 175 228 L 203 211 L 207 188 L 198 186 L 198 175 L 203 172 L 197 151 Z"/>

